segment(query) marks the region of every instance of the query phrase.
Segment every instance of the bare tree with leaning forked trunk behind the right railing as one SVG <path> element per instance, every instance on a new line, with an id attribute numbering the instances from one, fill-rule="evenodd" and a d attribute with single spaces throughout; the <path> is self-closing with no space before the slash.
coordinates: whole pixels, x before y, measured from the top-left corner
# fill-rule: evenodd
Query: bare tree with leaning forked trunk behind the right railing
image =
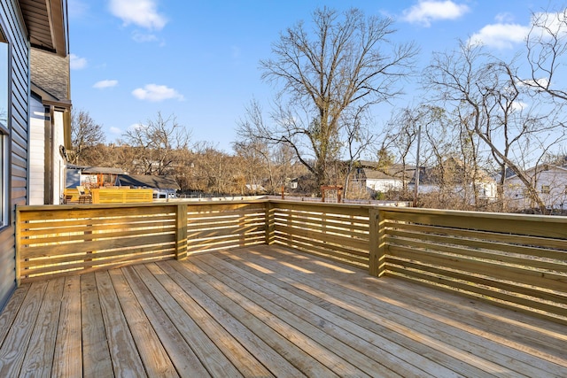
<path id="1" fill-rule="evenodd" d="M 503 201 L 503 182 L 511 169 L 541 212 L 546 212 L 537 188 L 518 163 L 538 151 L 526 150 L 533 141 L 544 143 L 557 123 L 545 113 L 539 113 L 537 99 L 529 97 L 526 104 L 525 86 L 518 85 L 512 63 L 486 54 L 482 46 L 461 43 L 453 53 L 435 54 L 426 70 L 426 84 L 436 89 L 440 99 L 453 104 L 462 114 L 470 116 L 470 132 L 490 149 L 501 170 L 499 196 Z M 537 157 L 536 157 L 537 158 Z"/>

